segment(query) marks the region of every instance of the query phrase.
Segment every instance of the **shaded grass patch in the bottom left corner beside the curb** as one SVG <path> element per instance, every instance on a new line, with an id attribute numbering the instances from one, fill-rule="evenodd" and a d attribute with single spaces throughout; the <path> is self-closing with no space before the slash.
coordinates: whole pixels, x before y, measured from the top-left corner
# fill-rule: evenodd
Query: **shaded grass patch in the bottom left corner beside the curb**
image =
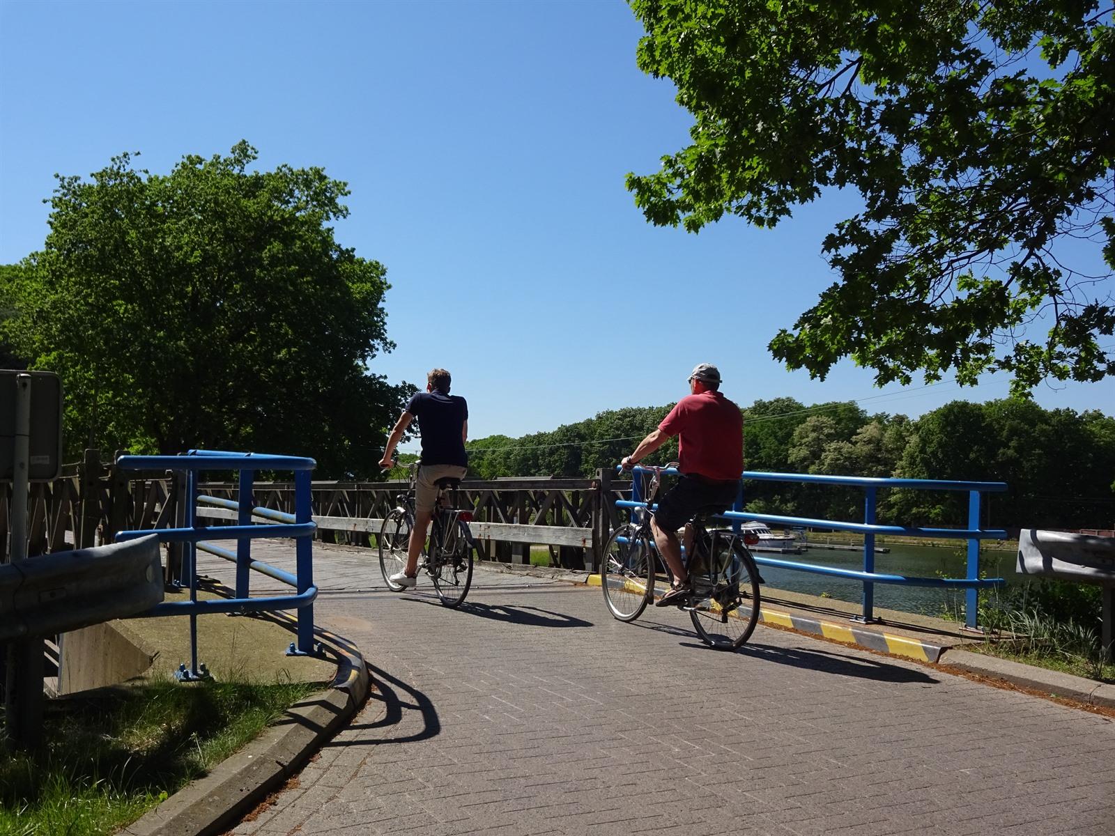
<path id="1" fill-rule="evenodd" d="M 48 701 L 41 750 L 0 752 L 0 834 L 107 836 L 319 690 L 161 681 Z"/>

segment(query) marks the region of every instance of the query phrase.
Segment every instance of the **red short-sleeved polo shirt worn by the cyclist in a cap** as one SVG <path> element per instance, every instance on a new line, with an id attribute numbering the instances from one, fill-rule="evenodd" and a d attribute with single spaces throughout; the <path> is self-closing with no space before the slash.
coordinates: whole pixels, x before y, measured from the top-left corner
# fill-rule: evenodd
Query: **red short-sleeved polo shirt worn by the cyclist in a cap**
<path id="1" fill-rule="evenodd" d="M 744 417 L 720 392 L 686 396 L 658 428 L 678 436 L 681 473 L 728 480 L 744 472 Z"/>

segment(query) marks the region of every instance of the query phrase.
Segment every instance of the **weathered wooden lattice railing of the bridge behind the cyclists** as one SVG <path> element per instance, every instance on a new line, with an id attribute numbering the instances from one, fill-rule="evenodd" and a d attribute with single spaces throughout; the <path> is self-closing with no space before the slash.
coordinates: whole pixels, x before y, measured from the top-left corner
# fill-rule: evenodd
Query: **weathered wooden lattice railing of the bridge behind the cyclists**
<path id="1" fill-rule="evenodd" d="M 314 482 L 318 537 L 374 544 L 384 516 L 405 489 L 404 482 Z M 293 483 L 258 482 L 253 492 L 259 506 L 294 511 Z M 201 493 L 235 499 L 236 484 L 203 483 Z M 530 563 L 531 545 L 544 545 L 551 565 L 595 571 L 600 550 L 619 524 L 613 500 L 629 494 L 630 483 L 613 488 L 611 473 L 600 472 L 591 479 L 465 480 L 457 500 L 472 509 L 473 534 L 489 560 Z M 184 495 L 181 474 L 118 472 L 112 463 L 103 464 L 97 450 L 87 450 L 80 463 L 64 467 L 59 479 L 31 486 L 29 554 L 112 542 L 118 531 L 181 525 L 185 515 L 178 498 Z M 10 499 L 10 486 L 0 487 L 0 563 L 7 560 L 3 544 Z M 197 514 L 210 519 L 235 518 L 235 512 L 204 505 Z M 172 547 L 168 577 L 180 560 L 181 553 Z"/>

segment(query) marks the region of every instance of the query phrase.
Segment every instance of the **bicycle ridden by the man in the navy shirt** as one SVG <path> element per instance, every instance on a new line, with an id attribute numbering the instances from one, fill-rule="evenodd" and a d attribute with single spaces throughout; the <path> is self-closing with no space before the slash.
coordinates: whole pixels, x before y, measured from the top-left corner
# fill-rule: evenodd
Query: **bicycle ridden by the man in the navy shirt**
<path id="1" fill-rule="evenodd" d="M 415 478 L 419 463 L 409 465 L 407 492 L 396 496 L 398 506 L 384 519 L 379 528 L 379 570 L 392 592 L 405 586 L 392 583 L 391 575 L 407 565 L 410 531 L 415 524 Z M 454 507 L 460 479 L 445 477 L 435 483 L 438 487 L 437 505 L 430 522 L 429 545 L 424 551 L 418 571 L 429 575 L 434 590 L 445 606 L 459 606 L 473 583 L 473 541 L 468 523 L 472 512 Z"/>

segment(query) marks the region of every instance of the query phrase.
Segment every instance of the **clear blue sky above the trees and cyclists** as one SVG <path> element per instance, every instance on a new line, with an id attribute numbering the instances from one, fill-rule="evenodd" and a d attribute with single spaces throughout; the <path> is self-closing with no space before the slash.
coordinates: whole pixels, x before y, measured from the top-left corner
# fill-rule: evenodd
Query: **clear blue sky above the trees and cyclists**
<path id="1" fill-rule="evenodd" d="M 775 231 L 650 226 L 623 187 L 687 140 L 669 81 L 634 64 L 623 2 L 27 2 L 0 0 L 0 263 L 41 247 L 54 174 L 124 150 L 166 173 L 248 139 L 258 165 L 347 181 L 339 241 L 388 269 L 396 350 L 443 366 L 474 437 L 552 429 L 687 393 L 720 367 L 746 406 L 862 400 L 918 416 L 1004 397 L 1007 381 L 825 382 L 766 344 L 833 281 L 834 194 Z M 1045 407 L 1115 412 L 1115 381 L 1039 387 Z"/>

